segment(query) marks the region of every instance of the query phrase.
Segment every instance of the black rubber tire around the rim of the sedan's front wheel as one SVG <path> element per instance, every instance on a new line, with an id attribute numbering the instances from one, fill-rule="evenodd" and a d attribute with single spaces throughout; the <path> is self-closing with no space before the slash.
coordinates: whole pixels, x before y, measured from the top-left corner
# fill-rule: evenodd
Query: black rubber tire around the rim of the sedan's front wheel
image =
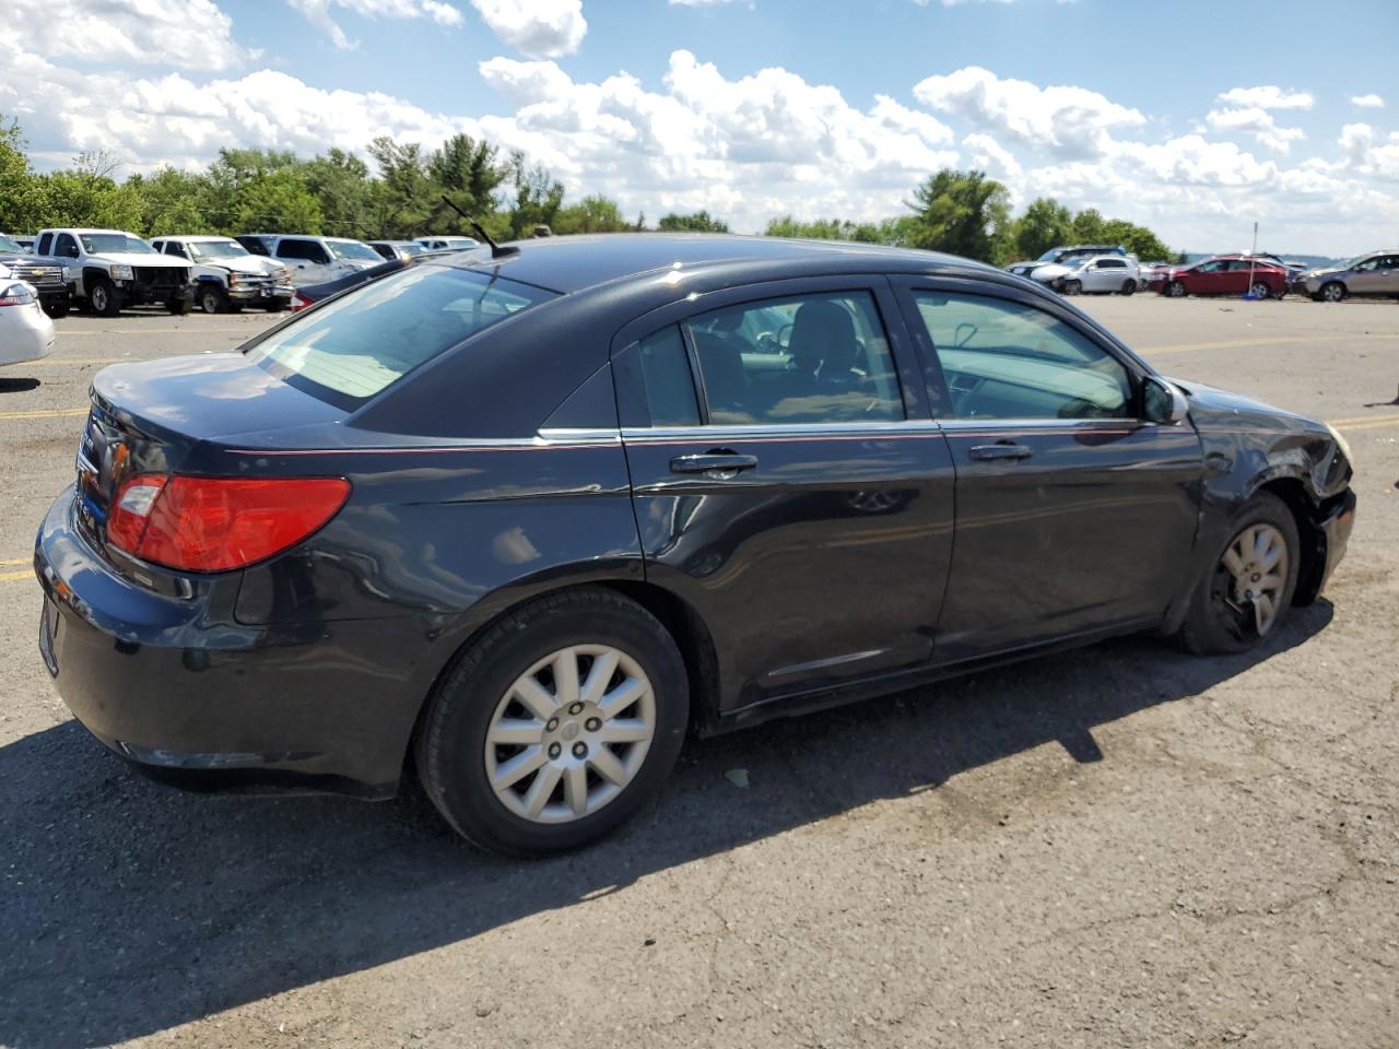
<path id="1" fill-rule="evenodd" d="M 1223 565 L 1224 554 L 1244 529 L 1252 524 L 1272 524 L 1287 545 L 1287 575 L 1277 603 L 1277 615 L 1266 635 L 1259 635 L 1252 622 L 1251 611 L 1240 613 L 1228 601 L 1230 573 Z M 1230 522 L 1228 538 L 1213 551 L 1209 569 L 1195 593 L 1191 607 L 1181 625 L 1179 639 L 1186 650 L 1196 655 L 1247 652 L 1277 634 L 1279 625 L 1291 607 L 1297 592 L 1297 572 L 1301 561 L 1301 541 L 1297 536 L 1297 519 L 1281 499 L 1269 492 L 1259 492 L 1234 515 Z"/>

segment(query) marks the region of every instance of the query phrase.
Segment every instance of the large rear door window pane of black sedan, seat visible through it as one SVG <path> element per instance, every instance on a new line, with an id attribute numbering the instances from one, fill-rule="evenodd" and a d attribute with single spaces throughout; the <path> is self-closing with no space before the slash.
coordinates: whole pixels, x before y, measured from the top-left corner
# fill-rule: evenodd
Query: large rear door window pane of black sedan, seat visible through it
<path id="1" fill-rule="evenodd" d="M 709 422 L 904 418 L 894 359 L 869 292 L 750 302 L 688 322 Z"/>

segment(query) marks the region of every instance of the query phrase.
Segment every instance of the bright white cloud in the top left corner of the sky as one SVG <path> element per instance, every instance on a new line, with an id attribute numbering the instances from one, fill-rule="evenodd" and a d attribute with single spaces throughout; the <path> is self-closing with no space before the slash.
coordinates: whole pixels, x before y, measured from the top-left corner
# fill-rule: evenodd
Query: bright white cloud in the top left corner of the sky
<path id="1" fill-rule="evenodd" d="M 218 71 L 253 57 L 213 0 L 10 0 L 4 36 L 36 55 L 81 62 Z"/>

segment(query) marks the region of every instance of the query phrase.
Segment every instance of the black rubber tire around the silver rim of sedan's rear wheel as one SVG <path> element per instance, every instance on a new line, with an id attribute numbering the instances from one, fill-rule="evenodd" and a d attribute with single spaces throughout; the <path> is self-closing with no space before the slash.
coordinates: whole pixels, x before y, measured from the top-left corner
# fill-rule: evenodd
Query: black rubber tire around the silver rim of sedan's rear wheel
<path id="1" fill-rule="evenodd" d="M 571 645 L 616 648 L 645 671 L 656 729 L 634 778 L 597 811 L 544 824 L 518 815 L 487 779 L 487 729 L 501 698 L 540 659 Z M 471 641 L 435 690 L 418 727 L 418 778 L 438 811 L 478 848 L 513 856 L 576 849 L 609 834 L 655 797 L 670 775 L 690 719 L 686 664 L 651 613 L 600 587 L 564 590 L 502 615 Z"/>

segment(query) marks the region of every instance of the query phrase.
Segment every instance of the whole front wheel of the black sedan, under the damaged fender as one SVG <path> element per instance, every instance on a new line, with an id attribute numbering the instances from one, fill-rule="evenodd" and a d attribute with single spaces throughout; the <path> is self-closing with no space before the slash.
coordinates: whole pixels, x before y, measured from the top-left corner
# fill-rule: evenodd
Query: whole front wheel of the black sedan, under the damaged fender
<path id="1" fill-rule="evenodd" d="M 1244 652 L 1276 632 L 1297 589 L 1297 522 L 1260 492 L 1235 515 L 1230 540 L 1191 597 L 1181 641 L 1191 652 Z"/>

